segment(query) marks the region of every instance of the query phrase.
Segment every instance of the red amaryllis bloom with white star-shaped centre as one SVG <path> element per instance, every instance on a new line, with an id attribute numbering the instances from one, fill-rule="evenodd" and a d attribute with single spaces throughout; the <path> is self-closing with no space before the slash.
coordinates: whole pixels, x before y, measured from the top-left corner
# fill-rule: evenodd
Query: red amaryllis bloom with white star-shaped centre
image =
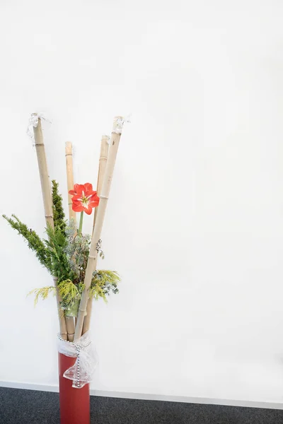
<path id="1" fill-rule="evenodd" d="M 96 208 L 99 204 L 97 192 L 93 192 L 93 186 L 89 182 L 75 184 L 74 190 L 70 190 L 69 194 L 73 196 L 71 201 L 73 202 L 72 209 L 75 212 L 85 211 L 88 215 L 91 215 L 93 208 Z"/>

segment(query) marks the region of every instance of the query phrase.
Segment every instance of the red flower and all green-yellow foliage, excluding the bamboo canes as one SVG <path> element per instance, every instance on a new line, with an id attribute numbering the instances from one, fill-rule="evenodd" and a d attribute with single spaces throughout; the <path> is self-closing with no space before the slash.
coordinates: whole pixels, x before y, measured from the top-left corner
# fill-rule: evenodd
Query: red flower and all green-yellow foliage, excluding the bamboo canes
<path id="1" fill-rule="evenodd" d="M 28 228 L 16 215 L 8 218 L 14 230 L 17 230 L 28 242 L 28 247 L 35 252 L 40 264 L 55 278 L 60 300 L 60 307 L 67 317 L 76 317 L 79 310 L 81 293 L 84 288 L 86 264 L 88 261 L 91 235 L 83 234 L 83 213 L 91 215 L 93 208 L 99 204 L 97 192 L 93 191 L 90 183 L 75 184 L 74 189 L 69 191 L 72 198 L 72 209 L 80 212 L 79 228 L 76 228 L 74 219 L 65 220 L 62 206 L 62 196 L 58 193 L 58 183 L 52 180 L 52 207 L 54 228 L 47 224 L 47 239 L 40 239 L 37 233 Z M 100 250 L 100 257 L 104 257 Z M 98 300 L 110 293 L 118 293 L 117 284 L 120 277 L 116 271 L 93 271 L 89 298 Z M 35 288 L 30 293 L 35 293 L 35 304 L 39 298 L 46 299 L 49 293 L 56 294 L 53 285 L 43 288 Z"/>

